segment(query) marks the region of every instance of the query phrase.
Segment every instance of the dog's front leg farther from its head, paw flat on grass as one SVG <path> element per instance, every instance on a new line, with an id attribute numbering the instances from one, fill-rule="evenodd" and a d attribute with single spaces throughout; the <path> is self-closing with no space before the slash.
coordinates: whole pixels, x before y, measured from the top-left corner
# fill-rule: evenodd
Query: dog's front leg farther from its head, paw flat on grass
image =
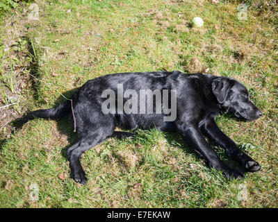
<path id="1" fill-rule="evenodd" d="M 227 178 L 243 178 L 244 174 L 236 169 L 231 169 L 227 164 L 222 162 L 217 153 L 213 151 L 211 146 L 204 139 L 201 130 L 197 126 L 177 126 L 184 141 L 190 148 L 193 148 L 197 153 L 202 155 L 209 167 L 213 167 L 224 173 Z"/>

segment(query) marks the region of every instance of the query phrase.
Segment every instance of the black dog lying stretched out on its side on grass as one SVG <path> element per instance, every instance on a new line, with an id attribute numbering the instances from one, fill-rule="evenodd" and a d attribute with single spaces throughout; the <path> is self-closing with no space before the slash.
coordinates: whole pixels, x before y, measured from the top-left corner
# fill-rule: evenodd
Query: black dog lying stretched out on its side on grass
<path id="1" fill-rule="evenodd" d="M 105 113 L 102 105 L 106 99 L 101 95 L 106 89 L 116 92 L 117 85 L 122 85 L 124 92 L 127 89 L 133 89 L 133 92 L 140 93 L 140 89 L 151 89 L 153 92 L 158 90 L 162 94 L 163 89 L 175 90 L 174 99 L 170 97 L 170 93 L 167 93 L 166 99 L 172 99 L 168 105 L 177 104 L 177 110 L 175 110 L 177 118 L 165 121 L 165 117 L 169 117 L 169 112 L 167 114 L 122 112 L 120 103 L 125 103 L 128 99 L 121 99 L 119 94 L 115 97 L 115 107 L 112 107 L 113 103 L 110 107 L 107 106 L 112 110 L 114 108 L 115 112 Z M 137 100 L 133 99 L 134 101 Z M 108 137 L 120 138 L 133 135 L 115 132 L 117 126 L 129 129 L 157 128 L 163 131 L 177 131 L 190 148 L 204 157 L 209 167 L 222 171 L 227 178 L 243 178 L 244 174 L 224 164 L 206 142 L 203 134 L 222 146 L 231 157 L 243 165 L 245 170 L 254 172 L 261 169 L 261 166 L 243 153 L 215 123 L 215 117 L 224 112 L 230 112 L 247 121 L 258 119 L 262 115 L 261 111 L 250 101 L 249 93 L 244 85 L 234 78 L 183 74 L 180 71 L 111 74 L 89 80 L 72 96 L 72 103 L 80 140 L 68 148 L 67 157 L 74 180 L 81 184 L 87 181 L 79 161 L 82 153 L 104 142 Z M 156 104 L 154 110 L 158 111 L 161 104 Z M 136 105 L 140 108 L 138 101 Z M 26 120 L 35 117 L 59 119 L 71 113 L 71 102 L 66 101 L 57 108 L 37 110 L 27 114 L 24 118 Z"/>

